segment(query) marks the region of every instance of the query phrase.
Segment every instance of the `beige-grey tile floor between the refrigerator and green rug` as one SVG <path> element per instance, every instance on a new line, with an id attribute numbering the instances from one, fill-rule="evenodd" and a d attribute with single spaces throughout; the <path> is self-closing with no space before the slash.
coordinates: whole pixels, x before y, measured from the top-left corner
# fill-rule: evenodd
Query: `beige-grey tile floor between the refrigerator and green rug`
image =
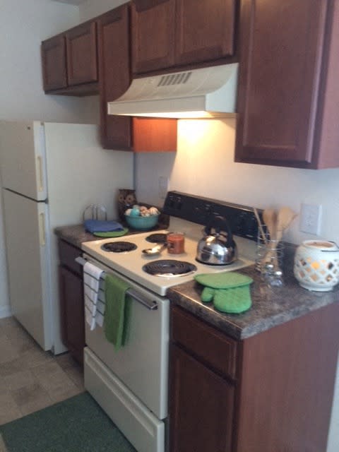
<path id="1" fill-rule="evenodd" d="M 44 352 L 16 319 L 0 319 L 0 424 L 83 391 L 83 371 L 69 353 Z"/>

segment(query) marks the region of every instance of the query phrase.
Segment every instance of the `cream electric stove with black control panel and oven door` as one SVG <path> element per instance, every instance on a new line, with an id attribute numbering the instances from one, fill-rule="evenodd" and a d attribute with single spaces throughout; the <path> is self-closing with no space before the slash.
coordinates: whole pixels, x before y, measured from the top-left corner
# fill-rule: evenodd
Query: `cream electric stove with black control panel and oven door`
<path id="1" fill-rule="evenodd" d="M 85 323 L 85 388 L 107 412 L 138 452 L 165 452 L 169 353 L 169 287 L 188 282 L 197 273 L 237 270 L 254 263 L 257 225 L 254 213 L 234 206 L 169 192 L 165 213 L 169 230 L 185 234 L 184 253 L 146 256 L 142 250 L 166 240 L 168 230 L 155 230 L 82 244 L 83 263 L 129 283 L 133 299 L 130 337 L 120 350 L 105 338 L 98 324 Z M 175 216 L 174 216 L 175 215 Z M 196 261 L 202 224 L 210 215 L 227 215 L 239 248 L 239 259 L 227 266 Z M 232 218 L 231 218 L 232 217 Z M 194 222 L 195 221 L 195 222 Z M 173 263 L 175 261 L 175 264 Z M 147 271 L 146 271 L 147 270 Z M 175 274 L 179 271 L 179 275 Z M 148 273 L 150 271 L 150 273 Z M 185 273 L 187 272 L 187 273 Z M 102 280 L 104 284 L 105 277 Z M 105 304 L 103 289 L 100 302 Z M 102 304 L 100 304 L 102 309 Z M 213 307 L 211 307 L 213 309 Z"/>

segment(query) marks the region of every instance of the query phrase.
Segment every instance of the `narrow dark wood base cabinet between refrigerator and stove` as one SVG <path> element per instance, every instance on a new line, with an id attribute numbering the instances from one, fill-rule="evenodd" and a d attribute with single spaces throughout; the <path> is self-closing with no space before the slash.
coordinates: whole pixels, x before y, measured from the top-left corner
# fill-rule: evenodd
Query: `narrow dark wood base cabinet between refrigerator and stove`
<path id="1" fill-rule="evenodd" d="M 82 267 L 75 258 L 81 249 L 59 239 L 59 297 L 62 341 L 71 355 L 83 364 L 85 318 Z"/>

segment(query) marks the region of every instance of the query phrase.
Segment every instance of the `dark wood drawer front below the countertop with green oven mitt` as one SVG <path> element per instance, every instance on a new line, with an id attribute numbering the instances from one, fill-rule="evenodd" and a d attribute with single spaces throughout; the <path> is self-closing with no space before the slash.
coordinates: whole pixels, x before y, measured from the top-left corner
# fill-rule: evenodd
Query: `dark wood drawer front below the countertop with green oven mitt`
<path id="1" fill-rule="evenodd" d="M 213 369 L 235 379 L 237 341 L 196 319 L 179 307 L 172 308 L 172 341 L 183 345 Z"/>

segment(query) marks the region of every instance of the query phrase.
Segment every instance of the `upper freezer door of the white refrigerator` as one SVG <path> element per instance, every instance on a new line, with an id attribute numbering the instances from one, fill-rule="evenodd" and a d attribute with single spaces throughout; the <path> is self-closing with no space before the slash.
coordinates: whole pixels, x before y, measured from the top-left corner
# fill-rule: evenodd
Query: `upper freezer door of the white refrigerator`
<path id="1" fill-rule="evenodd" d="M 2 186 L 37 201 L 47 198 L 44 125 L 0 121 Z"/>

